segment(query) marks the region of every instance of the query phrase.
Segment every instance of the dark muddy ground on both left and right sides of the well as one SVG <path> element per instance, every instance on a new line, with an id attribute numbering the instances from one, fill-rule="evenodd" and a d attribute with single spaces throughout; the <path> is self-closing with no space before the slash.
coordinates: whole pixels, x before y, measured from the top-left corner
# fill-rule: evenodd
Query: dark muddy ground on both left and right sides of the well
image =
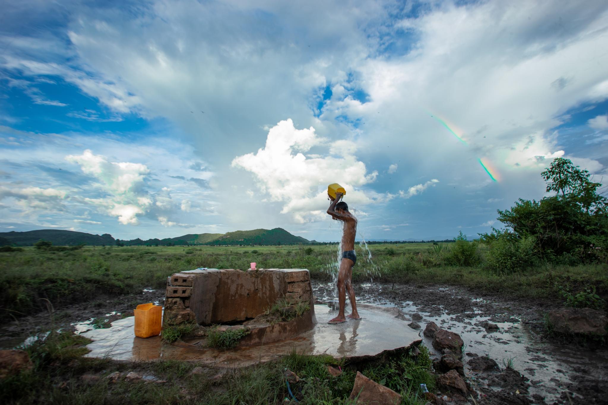
<path id="1" fill-rule="evenodd" d="M 320 301 L 334 298 L 329 282 L 313 282 L 313 290 Z M 480 394 L 477 404 L 608 403 L 608 348 L 591 350 L 543 336 L 545 313 L 561 302 L 511 301 L 443 285 L 363 283 L 355 290 L 360 302 L 398 307 L 407 322 L 421 318 L 420 336 L 431 350 L 430 339 L 422 333 L 428 322 L 458 333 L 465 342 L 466 377 Z M 54 317 L 43 312 L 21 318 L 0 328 L 0 348 L 15 347 L 49 328 L 84 332 L 93 327 L 92 319 L 120 319 L 131 316 L 136 304 L 162 305 L 163 300 L 164 290 L 144 290 L 57 308 Z M 499 329 L 488 330 L 485 322 Z M 477 356 L 494 359 L 499 369 L 475 372 L 467 362 Z M 507 369 L 509 364 L 513 370 Z"/>

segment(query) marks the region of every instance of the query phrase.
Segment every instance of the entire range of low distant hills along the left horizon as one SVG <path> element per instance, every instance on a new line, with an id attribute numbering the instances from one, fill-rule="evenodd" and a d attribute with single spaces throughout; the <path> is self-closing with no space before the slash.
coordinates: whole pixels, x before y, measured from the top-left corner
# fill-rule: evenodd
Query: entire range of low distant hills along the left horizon
<path id="1" fill-rule="evenodd" d="M 225 234 L 201 233 L 187 234 L 165 239 L 114 239 L 111 234 L 102 236 L 84 232 L 66 230 L 37 230 L 27 232 L 0 233 L 0 246 L 32 246 L 38 240 L 49 240 L 53 245 L 124 245 L 124 246 L 155 246 L 155 245 L 295 245 L 298 243 L 316 243 L 314 240 L 295 236 L 283 228 L 272 230 L 235 231 Z"/>

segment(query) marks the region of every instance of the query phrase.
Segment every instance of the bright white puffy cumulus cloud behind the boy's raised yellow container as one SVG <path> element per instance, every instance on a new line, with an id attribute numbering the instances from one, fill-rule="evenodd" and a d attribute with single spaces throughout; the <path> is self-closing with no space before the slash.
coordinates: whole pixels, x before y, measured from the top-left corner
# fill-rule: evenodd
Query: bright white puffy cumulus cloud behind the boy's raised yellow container
<path id="1" fill-rule="evenodd" d="M 306 157 L 313 147 L 329 148 L 329 154 Z M 327 185 L 338 182 L 347 190 L 349 203 L 356 206 L 375 202 L 384 194 L 363 191 L 361 186 L 374 182 L 378 172 L 367 172 L 354 155 L 356 144 L 348 140 L 328 143 L 314 128 L 295 129 L 291 119 L 272 127 L 266 145 L 257 153 L 235 157 L 232 166 L 252 172 L 262 192 L 271 201 L 283 202 L 282 214 L 295 222 L 308 222 L 325 213 Z"/>

